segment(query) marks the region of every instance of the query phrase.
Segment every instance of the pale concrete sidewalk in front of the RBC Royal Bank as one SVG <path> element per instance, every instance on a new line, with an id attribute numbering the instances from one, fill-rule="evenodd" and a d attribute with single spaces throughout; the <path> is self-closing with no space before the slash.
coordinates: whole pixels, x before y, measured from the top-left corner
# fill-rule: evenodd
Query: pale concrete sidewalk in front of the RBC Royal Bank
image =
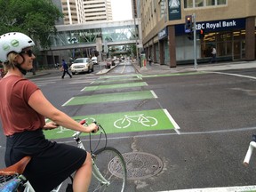
<path id="1" fill-rule="evenodd" d="M 256 68 L 256 60 L 253 61 L 230 61 L 214 64 L 197 64 L 197 68 L 193 64 L 190 65 L 178 65 L 176 68 L 170 68 L 167 65 L 160 65 L 158 63 L 152 63 L 151 66 L 147 64 L 146 67 L 140 68 L 137 61 L 132 62 L 134 68 L 142 75 L 153 74 L 169 74 L 169 73 L 185 73 L 191 71 L 220 71 L 239 68 Z"/>

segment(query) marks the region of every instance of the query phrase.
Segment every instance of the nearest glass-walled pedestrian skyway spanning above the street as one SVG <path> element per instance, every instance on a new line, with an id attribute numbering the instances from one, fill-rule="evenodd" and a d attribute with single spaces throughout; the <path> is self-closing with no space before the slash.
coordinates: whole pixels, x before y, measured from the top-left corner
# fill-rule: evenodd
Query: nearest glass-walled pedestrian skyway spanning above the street
<path id="1" fill-rule="evenodd" d="M 140 19 L 56 25 L 56 35 L 49 36 L 51 50 L 70 50 L 135 44 L 140 38 Z"/>

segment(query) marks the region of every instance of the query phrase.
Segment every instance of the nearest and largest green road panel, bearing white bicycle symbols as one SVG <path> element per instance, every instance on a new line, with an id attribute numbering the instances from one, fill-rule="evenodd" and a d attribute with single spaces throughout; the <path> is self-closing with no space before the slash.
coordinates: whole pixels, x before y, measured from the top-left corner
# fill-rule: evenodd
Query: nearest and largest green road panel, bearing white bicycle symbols
<path id="1" fill-rule="evenodd" d="M 123 112 L 123 113 L 101 114 L 101 115 L 91 115 L 91 116 L 74 116 L 73 118 L 76 119 L 76 121 L 79 121 L 86 117 L 92 120 L 95 119 L 98 123 L 100 123 L 103 126 L 107 134 L 120 133 L 120 132 L 147 132 L 147 131 L 157 131 L 157 130 L 161 131 L 161 130 L 175 129 L 174 125 L 172 124 L 172 120 L 170 119 L 170 115 L 169 116 L 166 115 L 165 112 L 164 112 L 164 109 L 155 109 L 155 110 L 129 111 L 129 112 Z M 116 128 L 115 122 L 119 119 L 124 120 L 124 116 L 128 116 L 127 118 L 131 121 L 130 126 L 127 126 L 126 128 Z M 156 119 L 157 124 L 152 117 Z M 123 125 L 126 126 L 127 124 L 125 123 L 127 123 L 129 120 L 127 119 L 124 120 Z M 90 123 L 90 120 L 87 120 L 87 121 L 88 123 Z M 141 121 L 144 121 L 144 123 L 141 123 Z M 149 126 L 147 126 L 147 124 Z M 120 125 L 120 124 L 117 124 L 117 125 Z M 44 133 L 47 139 L 60 139 L 60 138 L 68 138 L 68 137 L 72 138 L 72 134 L 74 133 L 74 131 L 68 130 L 65 128 L 64 129 L 57 128 L 51 131 L 44 131 Z M 83 133 L 82 135 L 88 135 L 88 134 Z"/>

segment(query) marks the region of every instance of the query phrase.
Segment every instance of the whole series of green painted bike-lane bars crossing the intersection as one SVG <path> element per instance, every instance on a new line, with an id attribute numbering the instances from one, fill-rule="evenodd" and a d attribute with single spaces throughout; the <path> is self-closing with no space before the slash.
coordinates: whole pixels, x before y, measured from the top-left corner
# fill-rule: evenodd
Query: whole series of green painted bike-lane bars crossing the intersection
<path id="1" fill-rule="evenodd" d="M 198 73 L 196 73 L 198 74 Z M 196 75 L 191 73 L 190 75 Z M 181 74 L 180 74 L 181 75 Z M 184 74 L 182 74 L 184 75 Z M 186 74 L 188 75 L 188 74 Z M 161 75 L 160 75 L 161 76 Z M 170 76 L 170 75 L 168 75 Z M 129 76 L 130 77 L 130 76 Z M 149 77 L 149 76 L 145 76 Z M 156 77 L 156 76 L 150 76 Z M 113 79 L 108 76 L 108 80 Z M 123 81 L 117 79 L 115 81 Z M 108 81 L 107 81 L 108 82 Z M 119 89 L 124 87 L 144 86 L 148 85 L 145 82 L 126 83 L 126 84 L 105 84 L 99 86 L 88 86 L 84 91 L 97 91 L 101 89 Z M 117 92 L 108 94 L 93 94 L 93 96 L 74 97 L 64 106 L 68 105 L 84 105 L 87 103 L 111 102 L 118 100 L 143 100 L 157 98 L 153 91 L 141 92 Z M 88 123 L 96 120 L 100 123 L 107 133 L 121 133 L 121 132 L 147 132 L 147 131 L 161 131 L 161 130 L 177 130 L 179 125 L 173 120 L 172 116 L 166 109 L 154 109 L 145 111 L 127 111 L 122 113 L 100 114 L 90 116 L 73 116 L 76 121 L 86 119 Z M 60 127 L 52 131 L 46 131 L 45 135 L 48 139 L 59 139 L 72 137 L 74 131 Z M 83 135 L 88 135 L 83 133 Z"/>

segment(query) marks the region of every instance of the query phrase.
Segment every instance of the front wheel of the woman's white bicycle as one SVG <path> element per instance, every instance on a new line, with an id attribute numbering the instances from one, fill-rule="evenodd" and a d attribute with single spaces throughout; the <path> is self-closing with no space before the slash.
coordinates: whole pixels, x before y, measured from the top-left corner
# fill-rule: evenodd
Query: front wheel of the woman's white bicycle
<path id="1" fill-rule="evenodd" d="M 123 192 L 127 170 L 122 154 L 116 148 L 100 148 L 93 155 L 93 176 L 89 191 Z"/>

